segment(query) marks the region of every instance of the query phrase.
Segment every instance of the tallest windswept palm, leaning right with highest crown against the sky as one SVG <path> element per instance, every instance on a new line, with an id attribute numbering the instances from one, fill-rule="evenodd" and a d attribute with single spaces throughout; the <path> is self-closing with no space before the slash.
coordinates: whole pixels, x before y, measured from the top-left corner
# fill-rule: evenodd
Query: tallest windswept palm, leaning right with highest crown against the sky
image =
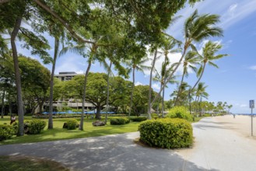
<path id="1" fill-rule="evenodd" d="M 198 10 L 195 10 L 195 12 L 193 12 L 192 15 L 189 16 L 188 19 L 186 19 L 184 23 L 183 53 L 181 55 L 180 61 L 174 68 L 174 71 L 168 76 L 167 82 L 172 78 L 174 73 L 177 71 L 179 65 L 181 65 L 181 62 L 183 61 L 184 56 L 188 51 L 188 48 L 191 47 L 195 49 L 195 46 L 192 44 L 193 42 L 200 42 L 208 37 L 223 36 L 223 30 L 215 26 L 216 23 L 219 23 L 219 16 L 209 14 L 199 16 Z M 167 82 L 164 83 L 163 87 L 167 85 Z M 163 91 L 163 87 L 161 87 L 158 96 L 160 96 L 160 93 Z M 155 102 L 158 96 L 156 96 L 155 99 L 153 99 L 152 103 Z"/>

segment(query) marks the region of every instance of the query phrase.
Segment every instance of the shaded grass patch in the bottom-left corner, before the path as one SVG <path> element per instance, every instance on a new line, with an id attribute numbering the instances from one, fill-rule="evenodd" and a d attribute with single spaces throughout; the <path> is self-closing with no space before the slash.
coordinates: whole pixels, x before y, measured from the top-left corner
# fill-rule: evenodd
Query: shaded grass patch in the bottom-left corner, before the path
<path id="1" fill-rule="evenodd" d="M 0 170 L 68 171 L 69 169 L 65 168 L 65 166 L 61 166 L 61 164 L 58 162 L 54 162 L 46 159 L 16 157 L 16 156 L 0 156 Z"/>

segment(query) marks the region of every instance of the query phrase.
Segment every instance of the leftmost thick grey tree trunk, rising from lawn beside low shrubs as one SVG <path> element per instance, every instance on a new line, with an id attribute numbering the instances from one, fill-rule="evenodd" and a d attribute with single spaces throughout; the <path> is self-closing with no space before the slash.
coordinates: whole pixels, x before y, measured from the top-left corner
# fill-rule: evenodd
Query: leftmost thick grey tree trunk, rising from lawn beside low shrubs
<path id="1" fill-rule="evenodd" d="M 17 134 L 18 136 L 24 135 L 23 98 L 22 98 L 22 92 L 21 92 L 18 52 L 17 52 L 16 44 L 15 44 L 15 39 L 16 39 L 17 33 L 19 32 L 19 27 L 21 25 L 21 21 L 22 21 L 22 16 L 19 16 L 16 19 L 16 23 L 12 30 L 12 34 L 11 34 L 12 58 L 13 58 L 13 65 L 14 65 L 15 79 L 16 79 L 18 115 L 19 115 L 19 126 L 18 126 L 19 128 L 18 128 L 18 134 Z"/>

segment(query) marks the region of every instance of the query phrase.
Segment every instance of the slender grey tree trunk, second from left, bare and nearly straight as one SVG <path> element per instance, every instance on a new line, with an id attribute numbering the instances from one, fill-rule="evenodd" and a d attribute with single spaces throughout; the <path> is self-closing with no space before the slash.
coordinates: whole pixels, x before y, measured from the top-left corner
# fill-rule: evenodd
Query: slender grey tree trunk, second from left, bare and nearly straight
<path id="1" fill-rule="evenodd" d="M 50 104 L 49 104 L 49 120 L 48 120 L 48 129 L 53 129 L 54 124 L 52 120 L 52 112 L 53 112 L 53 100 L 54 100 L 54 71 L 55 65 L 58 57 L 58 47 L 59 47 L 59 39 L 55 37 L 54 42 L 54 61 L 52 63 L 51 68 L 51 83 L 50 83 Z"/>

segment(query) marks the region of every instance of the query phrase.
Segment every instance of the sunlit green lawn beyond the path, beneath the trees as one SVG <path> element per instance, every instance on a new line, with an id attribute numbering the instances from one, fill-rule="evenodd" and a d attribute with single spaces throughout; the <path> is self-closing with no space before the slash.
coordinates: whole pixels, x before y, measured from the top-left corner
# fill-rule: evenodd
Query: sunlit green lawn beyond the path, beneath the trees
<path id="1" fill-rule="evenodd" d="M 9 117 L 0 119 L 0 124 L 9 124 Z M 24 120 L 31 120 L 32 117 L 25 117 Z M 18 118 L 17 118 L 18 120 Z M 47 119 L 41 119 L 48 121 Z M 72 138 L 87 138 L 87 137 L 97 137 L 107 134 L 121 134 L 126 132 L 138 131 L 139 122 L 131 122 L 124 125 L 110 125 L 107 123 L 103 127 L 93 127 L 93 119 L 84 120 L 84 131 L 76 130 L 67 130 L 63 129 L 62 126 L 67 119 L 54 119 L 54 129 L 47 130 L 47 126 L 44 128 L 44 131 L 41 134 L 25 134 L 23 137 L 13 136 L 11 139 L 0 141 L 0 145 L 7 144 L 17 144 L 17 143 L 29 143 L 29 142 L 39 142 L 39 141 L 54 141 L 61 139 L 72 139 Z M 79 122 L 79 118 L 77 118 Z"/>

